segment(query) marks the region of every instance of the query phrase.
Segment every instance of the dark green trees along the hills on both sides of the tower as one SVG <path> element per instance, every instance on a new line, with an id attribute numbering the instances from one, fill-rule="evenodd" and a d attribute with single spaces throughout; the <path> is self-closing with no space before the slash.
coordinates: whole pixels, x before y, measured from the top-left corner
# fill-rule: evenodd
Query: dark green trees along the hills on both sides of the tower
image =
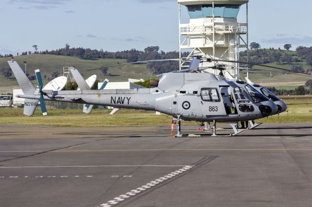
<path id="1" fill-rule="evenodd" d="M 53 55 L 66 55 L 66 56 L 77 56 L 79 58 L 116 58 L 116 59 L 126 59 L 128 63 L 145 61 L 145 60 L 155 60 L 155 59 L 176 59 L 179 58 L 179 52 L 164 52 L 159 51 L 158 46 L 150 46 L 145 48 L 143 51 L 136 49 L 108 52 L 101 50 L 92 50 L 90 48 L 71 48 L 69 44 L 65 44 L 64 48 L 52 51 L 39 51 L 37 45 L 32 46 L 36 52 L 39 54 L 53 54 Z M 285 44 L 284 48 L 289 50 L 292 47 L 291 44 Z M 309 66 L 312 67 L 312 47 L 299 46 L 296 48 L 296 54 L 291 54 L 289 52 L 282 51 L 280 48 L 274 50 L 270 49 L 260 49 L 261 46 L 258 43 L 251 43 L 249 51 L 249 62 L 256 64 L 267 64 L 267 63 L 281 63 L 286 62 L 291 66 L 293 72 L 312 72 L 312 68 L 303 69 L 302 65 L 292 65 L 292 62 L 304 62 L 306 61 Z M 253 50 L 254 49 L 254 50 Z M 31 54 L 32 52 L 22 52 L 21 55 Z M 188 52 L 182 53 L 182 57 L 186 57 Z M 5 54 L 4 57 L 11 57 L 12 54 Z M 246 61 L 247 51 L 240 52 L 241 61 Z M 0 57 L 3 57 L 0 55 Z M 161 74 L 165 72 L 171 72 L 179 69 L 179 63 L 177 61 L 164 61 L 164 62 L 150 62 L 147 64 L 147 68 L 151 70 L 154 74 Z M 9 72 L 6 69 L 0 71 L 5 77 L 10 77 Z M 107 73 L 107 69 L 102 69 L 103 73 Z M 55 76 L 55 74 L 52 76 Z M 34 77 L 30 77 L 34 78 Z"/>

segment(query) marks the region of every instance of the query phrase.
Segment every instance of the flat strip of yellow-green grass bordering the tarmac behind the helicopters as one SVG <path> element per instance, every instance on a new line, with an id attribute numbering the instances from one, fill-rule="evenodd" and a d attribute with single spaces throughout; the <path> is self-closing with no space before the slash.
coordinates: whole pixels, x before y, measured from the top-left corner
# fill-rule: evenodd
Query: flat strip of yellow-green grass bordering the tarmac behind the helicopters
<path id="1" fill-rule="evenodd" d="M 257 120 L 263 123 L 302 123 L 312 122 L 312 96 L 282 97 L 288 104 L 288 111 L 280 115 Z M 156 115 L 154 111 L 122 109 L 114 115 L 111 110 L 94 109 L 91 114 L 83 115 L 81 110 L 48 110 L 48 116 L 43 117 L 36 110 L 33 117 L 25 117 L 22 108 L 0 109 L 0 124 L 25 124 L 44 126 L 71 127 L 104 127 L 104 126 L 142 126 L 169 125 L 171 117 Z M 184 121 L 183 124 L 196 124 L 195 121 Z"/>

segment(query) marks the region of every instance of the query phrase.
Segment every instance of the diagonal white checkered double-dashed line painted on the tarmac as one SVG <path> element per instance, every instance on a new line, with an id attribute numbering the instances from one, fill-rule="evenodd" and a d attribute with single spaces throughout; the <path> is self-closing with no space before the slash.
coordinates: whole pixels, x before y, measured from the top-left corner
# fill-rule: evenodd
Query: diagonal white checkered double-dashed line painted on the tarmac
<path id="1" fill-rule="evenodd" d="M 98 207 L 111 207 L 113 205 L 116 205 L 119 202 L 124 201 L 127 198 L 135 196 L 138 193 L 140 193 L 140 192 L 142 192 L 144 190 L 147 190 L 149 188 L 152 188 L 152 187 L 162 183 L 165 180 L 168 180 L 170 178 L 175 177 L 178 174 L 184 173 L 184 172 L 190 170 L 193 167 L 195 167 L 195 166 L 184 166 L 183 168 L 181 168 L 181 169 L 179 169 L 179 170 L 177 170 L 175 172 L 172 172 L 172 173 L 169 173 L 169 174 L 167 174 L 167 175 L 165 175 L 163 177 L 157 178 L 156 180 L 153 180 L 153 181 L 151 181 L 151 182 L 149 182 L 149 183 L 147 183 L 147 184 L 145 184 L 145 185 L 143 185 L 143 186 L 141 186 L 141 187 L 139 187 L 137 189 L 130 190 L 129 192 L 126 192 L 125 194 L 119 195 L 118 197 L 116 197 L 116 198 L 114 198 L 114 199 L 112 199 L 110 201 L 107 201 L 104 204 L 100 204 Z"/>

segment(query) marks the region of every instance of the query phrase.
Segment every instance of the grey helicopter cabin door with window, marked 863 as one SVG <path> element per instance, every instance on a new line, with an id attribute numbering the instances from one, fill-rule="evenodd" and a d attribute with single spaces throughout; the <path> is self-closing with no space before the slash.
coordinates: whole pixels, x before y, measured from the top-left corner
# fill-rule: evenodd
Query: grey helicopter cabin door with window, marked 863
<path id="1" fill-rule="evenodd" d="M 199 102 L 203 115 L 226 115 L 219 86 L 200 87 Z"/>

